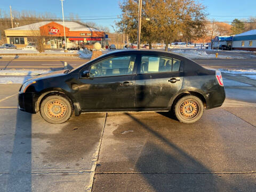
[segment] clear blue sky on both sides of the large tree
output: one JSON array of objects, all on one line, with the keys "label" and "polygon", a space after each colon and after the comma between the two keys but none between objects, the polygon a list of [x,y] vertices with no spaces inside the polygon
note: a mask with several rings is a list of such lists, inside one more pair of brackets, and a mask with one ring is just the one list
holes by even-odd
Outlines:
[{"label": "clear blue sky on both sides of the large tree", "polygon": [[[121,10],[118,3],[122,0],[65,0],[64,12],[69,17],[69,13],[78,14],[83,21],[92,21],[102,26],[114,25]],[[255,0],[198,0],[206,6],[209,12],[209,19],[218,21],[232,21],[235,18],[243,19],[250,16],[256,17]],[[0,9],[9,12],[9,6],[17,11],[51,12],[57,17],[61,17],[61,2],[59,0],[1,0]],[[103,18],[103,19],[102,19]],[[98,20],[100,19],[100,20]]]}]

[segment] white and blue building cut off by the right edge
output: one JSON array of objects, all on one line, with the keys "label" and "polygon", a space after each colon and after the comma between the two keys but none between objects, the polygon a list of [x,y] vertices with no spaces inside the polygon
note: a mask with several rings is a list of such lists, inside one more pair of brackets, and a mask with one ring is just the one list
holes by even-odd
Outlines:
[{"label": "white and blue building cut off by the right edge", "polygon": [[256,51],[256,29],[235,35],[233,37],[233,49]]}]

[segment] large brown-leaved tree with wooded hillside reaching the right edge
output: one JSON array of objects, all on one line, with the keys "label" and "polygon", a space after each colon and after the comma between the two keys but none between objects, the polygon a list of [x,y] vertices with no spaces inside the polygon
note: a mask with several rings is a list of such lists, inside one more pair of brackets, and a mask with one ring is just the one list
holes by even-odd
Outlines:
[{"label": "large brown-leaved tree with wooded hillside reaching the right edge", "polygon": [[[256,18],[235,19],[231,25],[209,21],[205,6],[194,0],[141,1],[141,42],[149,44],[150,49],[153,43],[164,43],[167,50],[167,45],[174,41],[209,41],[212,35],[235,35],[256,28]],[[138,4],[139,0],[119,4],[122,13],[116,26],[119,33],[129,35],[131,42],[137,42]]]}]

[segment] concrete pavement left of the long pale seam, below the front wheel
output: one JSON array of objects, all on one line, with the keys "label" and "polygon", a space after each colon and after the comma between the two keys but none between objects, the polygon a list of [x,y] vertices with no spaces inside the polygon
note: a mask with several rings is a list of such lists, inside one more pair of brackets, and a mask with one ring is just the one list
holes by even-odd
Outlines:
[{"label": "concrete pavement left of the long pale seam, below the front wheel", "polygon": [[20,85],[0,85],[0,191],[90,191],[106,114],[49,124],[20,111]]}]

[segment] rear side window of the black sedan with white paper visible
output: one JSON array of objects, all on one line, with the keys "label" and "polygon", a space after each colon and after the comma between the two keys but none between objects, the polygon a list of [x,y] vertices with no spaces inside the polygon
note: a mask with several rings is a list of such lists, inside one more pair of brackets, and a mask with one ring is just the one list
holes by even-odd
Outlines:
[{"label": "rear side window of the black sedan with white paper visible", "polygon": [[180,60],[154,56],[145,55],[141,57],[140,73],[165,73],[165,72],[178,72],[180,69]]}]

